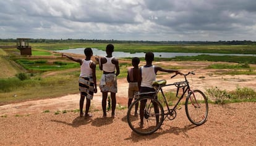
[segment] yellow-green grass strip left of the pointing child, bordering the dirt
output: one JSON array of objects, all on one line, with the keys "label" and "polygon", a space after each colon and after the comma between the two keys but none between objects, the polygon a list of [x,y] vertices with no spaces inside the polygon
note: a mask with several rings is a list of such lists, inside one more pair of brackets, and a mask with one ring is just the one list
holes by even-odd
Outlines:
[{"label": "yellow-green grass strip left of the pointing child, bordering the dirt", "polygon": [[[0,103],[22,102],[30,99],[59,97],[76,94],[77,76],[33,77],[21,81],[18,78],[0,79]],[[16,97],[14,97],[16,95]]]}]

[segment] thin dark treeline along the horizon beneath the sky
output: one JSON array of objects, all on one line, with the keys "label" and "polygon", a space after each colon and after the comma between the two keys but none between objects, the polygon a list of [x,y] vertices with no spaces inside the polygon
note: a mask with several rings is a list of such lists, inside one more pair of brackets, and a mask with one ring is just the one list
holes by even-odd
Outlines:
[{"label": "thin dark treeline along the horizon beneath the sky", "polygon": [[[0,39],[0,42],[16,42],[16,39]],[[145,44],[209,44],[256,45],[256,41],[120,41],[114,39],[30,39],[30,43],[145,43]]]}]

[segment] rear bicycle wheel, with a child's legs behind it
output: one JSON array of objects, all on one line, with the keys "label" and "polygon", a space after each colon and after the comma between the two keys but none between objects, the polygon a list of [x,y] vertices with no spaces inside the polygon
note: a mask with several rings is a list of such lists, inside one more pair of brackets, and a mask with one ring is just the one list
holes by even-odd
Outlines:
[{"label": "rear bicycle wheel, with a child's legs behind it", "polygon": [[127,112],[127,122],[130,128],[141,135],[152,134],[158,130],[163,119],[163,107],[158,100],[152,97],[142,97],[135,100]]}]

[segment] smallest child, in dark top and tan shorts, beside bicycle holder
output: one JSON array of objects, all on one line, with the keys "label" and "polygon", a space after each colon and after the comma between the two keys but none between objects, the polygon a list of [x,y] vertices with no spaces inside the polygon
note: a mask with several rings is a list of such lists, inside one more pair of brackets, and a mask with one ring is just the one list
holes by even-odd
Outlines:
[{"label": "smallest child, in dark top and tan shorts, beside bicycle holder", "polygon": [[[128,88],[128,107],[132,103],[132,99],[137,99],[135,95],[136,92],[139,92],[138,79],[139,79],[139,63],[140,59],[138,57],[134,57],[132,59],[132,66],[134,68],[129,68],[127,71],[127,81],[129,83]],[[137,116],[138,104],[135,105],[135,113],[134,116]]]}]

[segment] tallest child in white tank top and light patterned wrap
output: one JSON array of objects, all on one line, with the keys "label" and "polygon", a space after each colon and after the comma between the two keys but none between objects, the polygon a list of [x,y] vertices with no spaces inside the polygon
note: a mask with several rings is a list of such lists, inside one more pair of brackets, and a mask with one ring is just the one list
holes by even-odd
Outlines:
[{"label": "tallest child in white tank top and light patterned wrap", "polygon": [[118,59],[113,57],[113,52],[113,44],[108,44],[106,46],[106,57],[101,57],[100,59],[98,59],[100,64],[100,70],[103,70],[103,75],[101,76],[100,81],[100,89],[102,92],[101,105],[103,109],[103,118],[106,118],[106,100],[108,98],[108,92],[111,92],[112,117],[114,117],[114,111],[116,110],[116,77],[119,75],[119,62]]}]

